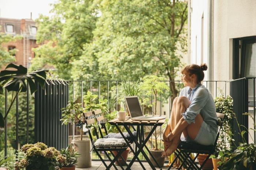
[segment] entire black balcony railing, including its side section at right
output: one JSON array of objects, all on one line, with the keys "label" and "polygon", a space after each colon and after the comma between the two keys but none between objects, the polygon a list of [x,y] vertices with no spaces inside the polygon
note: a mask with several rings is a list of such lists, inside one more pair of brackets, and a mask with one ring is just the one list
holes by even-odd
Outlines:
[{"label": "entire black balcony railing, including its side section at right", "polygon": [[[246,78],[245,78],[246,79]],[[218,89],[221,89],[223,91],[223,93],[226,95],[231,94],[232,97],[234,97],[234,109],[237,107],[237,105],[241,105],[241,101],[244,100],[244,107],[246,107],[246,97],[241,98],[239,97],[240,93],[241,93],[241,88],[245,88],[246,89],[246,84],[242,84],[242,83],[238,83],[238,81],[240,80],[234,80],[234,81],[204,81],[203,84],[211,91],[212,96],[215,98],[217,97],[220,93]],[[119,81],[119,80],[106,80],[106,81],[68,81],[68,99],[72,99],[73,101],[79,102],[81,103],[81,101],[83,101],[83,95],[86,94],[86,92],[88,90],[90,90],[91,92],[93,92],[94,94],[98,95],[98,98],[106,98],[108,99],[108,113],[110,111],[114,111],[114,110],[119,110],[120,107],[124,107],[125,109],[125,105],[120,105],[117,103],[117,101],[115,101],[115,103],[113,103],[113,97],[118,94],[118,87],[121,86],[121,83],[123,81]],[[182,81],[165,81],[167,85],[169,85],[169,90],[166,90],[163,94],[160,94],[159,96],[157,96],[157,102],[159,104],[159,106],[157,108],[157,111],[159,113],[159,115],[163,116],[166,115],[167,119],[170,118],[170,114],[171,114],[171,109],[172,109],[172,100],[173,100],[173,91],[171,90],[171,85],[172,83],[174,83],[176,90],[177,90],[177,95],[179,94],[180,90],[183,87],[183,83]],[[254,101],[254,105],[253,105],[253,116],[254,116],[254,121],[255,121],[255,78],[253,79],[253,101]],[[236,84],[236,86],[234,86],[234,84]],[[244,85],[244,86],[242,86]],[[251,87],[251,86],[249,86]],[[237,89],[237,90],[236,90]],[[49,89],[50,90],[50,89]],[[52,89],[51,89],[52,90]],[[56,93],[57,91],[52,91],[51,95],[54,95],[54,93]],[[12,92],[7,92],[5,90],[5,102],[4,102],[4,109],[6,112],[7,109],[7,105],[8,105],[8,98],[11,97]],[[238,95],[239,94],[239,95]],[[246,94],[246,92],[244,93]],[[62,95],[59,91],[59,93],[56,95]],[[146,95],[146,94],[145,94]],[[237,95],[237,96],[236,96]],[[245,95],[246,96],[246,95]],[[153,95],[149,96],[150,98],[150,103],[153,103],[155,101]],[[241,98],[240,103],[236,103],[237,99]],[[9,99],[10,100],[10,99]],[[23,109],[22,111],[20,110],[21,106],[20,106],[20,101],[22,100],[22,104],[24,107],[24,104],[26,104],[26,108],[25,110]],[[248,102],[248,100],[247,100]],[[2,137],[4,139],[4,156],[6,156],[8,153],[9,148],[13,147],[15,150],[19,149],[22,144],[25,143],[33,143],[35,141],[36,138],[33,138],[33,136],[35,135],[35,129],[31,130],[31,124],[33,125],[35,123],[35,117],[31,117],[31,113],[33,113],[34,111],[31,110],[31,105],[35,107],[34,110],[36,110],[37,106],[34,104],[34,99],[33,96],[31,96],[29,94],[29,90],[27,90],[26,94],[19,95],[19,97],[17,97],[16,100],[16,105],[14,106],[15,108],[12,109],[12,117],[9,117],[8,120],[6,120],[5,122],[5,130],[4,133],[2,134]],[[64,105],[64,104],[63,104]],[[59,107],[59,109],[61,108],[61,106]],[[153,108],[146,108],[146,107],[142,107],[143,108],[143,113],[144,114],[150,114],[150,112],[154,111]],[[235,110],[234,110],[235,111]],[[24,114],[24,112],[26,112],[26,114]],[[21,114],[22,113],[22,114]],[[240,113],[240,112],[239,112]],[[20,115],[22,115],[22,117],[20,117]],[[10,116],[10,115],[8,115]],[[26,119],[25,124],[20,124],[20,119]],[[10,120],[11,119],[11,120]],[[14,120],[15,119],[15,120]],[[238,120],[240,121],[240,119]],[[10,122],[15,124],[10,124]],[[8,124],[9,123],[9,124]],[[246,125],[246,124],[245,124]],[[20,129],[20,126],[22,126],[23,128]],[[25,128],[24,128],[25,127]],[[57,126],[56,126],[57,127]],[[10,134],[10,132],[13,133],[13,128],[15,128],[15,139],[10,137],[13,134]],[[9,132],[10,131],[10,132]],[[54,126],[52,126],[52,128],[50,129],[50,131],[57,131],[57,128],[55,129]],[[9,132],[9,134],[8,134]],[[69,130],[68,131],[64,131],[66,134],[65,135],[69,135],[72,136],[72,138],[75,138],[76,135],[79,135],[79,130],[76,129],[76,127],[74,125],[70,125],[69,126]],[[235,131],[236,132],[236,131]],[[22,135],[20,135],[22,134]],[[63,132],[61,133],[63,134]],[[3,136],[4,135],[4,136]],[[22,140],[20,139],[22,136]],[[159,136],[159,140],[162,137],[162,135]],[[51,135],[49,135],[48,138],[51,138]],[[19,140],[20,139],[20,140]],[[38,138],[37,138],[38,139]],[[2,140],[3,141],[3,140]],[[21,142],[22,141],[22,142]],[[254,140],[253,142],[255,142],[255,134],[254,134]],[[10,144],[8,144],[10,143]],[[151,145],[152,147],[152,139],[151,139]],[[53,145],[54,146],[54,145]],[[61,145],[62,146],[62,145]],[[162,142],[160,143],[160,147],[163,147]],[[8,148],[8,150],[7,150]],[[97,159],[97,157],[95,157],[95,159]]]}]

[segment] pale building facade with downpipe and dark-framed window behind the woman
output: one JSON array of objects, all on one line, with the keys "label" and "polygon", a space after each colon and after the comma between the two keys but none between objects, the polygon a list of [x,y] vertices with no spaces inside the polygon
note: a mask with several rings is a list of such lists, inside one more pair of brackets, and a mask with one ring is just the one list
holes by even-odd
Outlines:
[{"label": "pale building facade with downpipe and dark-framed window behind the woman", "polygon": [[[256,77],[256,1],[188,0],[188,6],[189,62],[208,64],[205,80]],[[210,88],[217,94],[215,85]],[[229,85],[225,88],[229,92]],[[253,89],[253,78],[248,78],[248,112],[252,116]],[[248,121],[248,129],[253,128],[253,121]]]}]

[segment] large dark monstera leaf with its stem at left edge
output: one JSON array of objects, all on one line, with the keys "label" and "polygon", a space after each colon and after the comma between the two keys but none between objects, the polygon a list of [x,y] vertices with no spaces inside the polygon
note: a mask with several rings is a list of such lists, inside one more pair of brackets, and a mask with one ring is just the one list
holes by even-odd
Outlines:
[{"label": "large dark monstera leaf with its stem at left edge", "polygon": [[[6,70],[9,69],[9,70]],[[6,66],[5,70],[0,72],[0,94],[3,94],[3,88],[7,89],[8,92],[14,91],[17,92],[26,92],[27,84],[29,84],[30,93],[33,94],[37,87],[35,81],[43,88],[45,85],[46,73],[44,70],[36,70],[30,73],[27,73],[27,68],[22,65],[15,65],[13,63]],[[27,81],[27,84],[26,84]],[[16,96],[17,96],[16,94]],[[6,119],[10,108],[14,103],[16,96],[13,98],[7,113],[3,117],[0,113],[0,127],[4,127],[4,120]]]}]

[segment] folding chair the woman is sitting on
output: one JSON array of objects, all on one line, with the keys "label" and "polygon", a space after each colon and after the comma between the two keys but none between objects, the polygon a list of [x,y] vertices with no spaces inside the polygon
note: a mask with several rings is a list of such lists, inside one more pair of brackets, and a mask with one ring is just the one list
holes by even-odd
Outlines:
[{"label": "folding chair the woman is sitting on", "polygon": [[[205,146],[205,145],[201,145],[201,144],[193,143],[193,142],[181,142],[179,144],[177,150],[174,152],[174,154],[176,155],[176,158],[171,163],[169,169],[174,165],[174,163],[177,159],[180,159],[180,161],[182,162],[180,167],[179,167],[179,170],[184,165],[188,166],[187,170],[189,170],[189,169],[201,170],[203,168],[204,164],[209,159],[211,154],[213,154],[215,152],[215,147],[217,145],[217,141],[218,141],[218,138],[219,138],[219,132],[221,130],[222,123],[225,119],[225,114],[217,113],[217,117],[220,118],[221,121],[218,121],[219,130],[218,130],[218,134],[216,136],[214,144],[210,145],[210,146]],[[191,153],[196,153],[196,157],[194,159],[192,159],[189,156]],[[206,157],[206,159],[204,160],[202,166],[200,166],[200,167],[197,166],[197,164],[195,163],[195,160],[196,160],[196,158],[198,157],[199,154],[207,154],[208,155]]]}]

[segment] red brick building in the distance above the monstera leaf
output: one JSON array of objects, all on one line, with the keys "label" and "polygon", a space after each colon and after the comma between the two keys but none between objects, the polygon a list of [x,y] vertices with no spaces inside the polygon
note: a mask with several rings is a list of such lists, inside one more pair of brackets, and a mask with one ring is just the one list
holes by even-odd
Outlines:
[{"label": "red brick building in the distance above the monstera leaf", "polygon": [[31,59],[35,57],[32,48],[38,47],[36,44],[35,34],[37,27],[31,19],[8,19],[0,18],[0,32],[12,35],[22,35],[22,39],[16,42],[3,44],[8,50],[17,49],[15,53],[16,64],[26,67],[30,66]]}]

